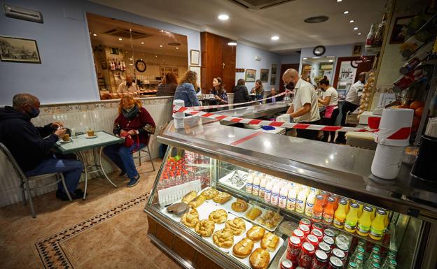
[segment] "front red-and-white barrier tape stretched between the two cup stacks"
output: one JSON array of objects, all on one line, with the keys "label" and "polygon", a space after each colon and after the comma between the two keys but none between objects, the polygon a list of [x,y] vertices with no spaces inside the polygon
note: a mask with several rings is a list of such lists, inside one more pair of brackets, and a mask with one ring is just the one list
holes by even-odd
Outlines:
[{"label": "front red-and-white barrier tape stretched between the two cup stacks", "polygon": [[175,112],[183,112],[196,117],[219,119],[219,120],[224,120],[226,122],[259,124],[263,126],[274,126],[274,127],[294,128],[294,129],[307,129],[307,130],[318,130],[318,131],[359,131],[359,132],[371,132],[371,133],[375,133],[380,130],[380,129],[363,129],[363,128],[344,127],[344,126],[326,126],[326,125],[301,124],[301,123],[289,123],[289,122],[271,122],[270,120],[261,120],[261,119],[244,119],[242,117],[230,117],[226,115],[214,114],[211,112],[199,111],[184,106],[174,106],[173,113]]}]

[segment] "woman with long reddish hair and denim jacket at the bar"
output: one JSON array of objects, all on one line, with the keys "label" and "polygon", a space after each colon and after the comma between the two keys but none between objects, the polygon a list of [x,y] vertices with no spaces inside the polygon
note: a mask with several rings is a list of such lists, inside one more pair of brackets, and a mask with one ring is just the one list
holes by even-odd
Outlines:
[{"label": "woman with long reddish hair and denim jacket at the bar", "polygon": [[197,73],[195,73],[195,71],[188,70],[183,75],[178,87],[176,87],[174,99],[183,100],[185,102],[185,106],[200,106],[195,89],[197,89]]}]

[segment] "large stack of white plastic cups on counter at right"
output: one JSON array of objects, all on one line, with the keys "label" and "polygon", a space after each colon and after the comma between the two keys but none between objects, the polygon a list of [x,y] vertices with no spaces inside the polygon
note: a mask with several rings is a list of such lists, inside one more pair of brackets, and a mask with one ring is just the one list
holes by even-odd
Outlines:
[{"label": "large stack of white plastic cups on counter at right", "polygon": [[375,157],[372,162],[372,173],[385,180],[393,180],[401,170],[405,147],[409,145],[412,109],[391,109],[382,111],[380,131],[375,141],[377,143]]}]

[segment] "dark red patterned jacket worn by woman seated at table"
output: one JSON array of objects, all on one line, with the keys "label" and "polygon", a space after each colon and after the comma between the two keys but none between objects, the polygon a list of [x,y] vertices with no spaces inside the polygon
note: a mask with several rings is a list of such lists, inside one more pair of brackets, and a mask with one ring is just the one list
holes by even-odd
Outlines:
[{"label": "dark red patterned jacket worn by woman seated at table", "polygon": [[[139,143],[144,143],[144,145],[148,144],[148,138],[149,138],[149,133],[146,132],[146,130],[144,129],[144,126],[146,126],[146,124],[150,124],[153,127],[155,126],[155,122],[153,122],[153,118],[151,117],[150,114],[148,114],[146,108],[140,108],[139,113],[137,115],[137,117],[135,117],[132,120],[126,119],[123,116],[123,113],[120,113],[120,115],[118,115],[118,117],[116,118],[116,120],[114,121],[114,124],[119,124],[120,128],[117,130],[116,128],[114,128],[114,133],[119,135],[120,134],[120,129],[134,129],[137,130],[139,132],[138,136],[139,136]],[[133,137],[134,141],[137,140],[137,138]]]}]

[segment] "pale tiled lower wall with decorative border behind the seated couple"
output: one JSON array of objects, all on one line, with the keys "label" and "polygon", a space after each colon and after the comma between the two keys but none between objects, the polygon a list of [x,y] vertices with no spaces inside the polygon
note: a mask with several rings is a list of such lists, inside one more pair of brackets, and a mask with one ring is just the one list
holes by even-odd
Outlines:
[{"label": "pale tiled lower wall with decorative border behind the seated couple", "polygon": [[[157,126],[157,133],[160,126],[172,119],[172,98],[171,97],[152,97],[141,99],[144,108],[153,117]],[[118,100],[95,101],[89,103],[76,104],[53,104],[41,106],[41,114],[33,120],[36,126],[42,126],[50,122],[63,122],[68,128],[76,128],[77,131],[85,131],[85,127],[92,127],[96,131],[108,131],[112,133],[113,121],[117,116]],[[19,143],[19,141],[18,141]],[[158,157],[159,144],[156,136],[151,137],[149,143],[152,158]],[[142,154],[144,156],[144,154]],[[91,159],[91,154],[87,152],[86,158]],[[0,154],[0,207],[11,205],[21,201],[21,192],[18,177],[12,166],[6,164],[3,154]],[[111,172],[114,167],[108,159],[104,159],[106,172]],[[52,179],[47,179],[52,180]],[[44,182],[42,181],[41,184]],[[57,187],[41,189],[35,195],[45,194],[53,191]]]}]

